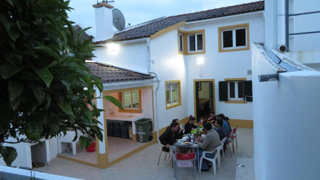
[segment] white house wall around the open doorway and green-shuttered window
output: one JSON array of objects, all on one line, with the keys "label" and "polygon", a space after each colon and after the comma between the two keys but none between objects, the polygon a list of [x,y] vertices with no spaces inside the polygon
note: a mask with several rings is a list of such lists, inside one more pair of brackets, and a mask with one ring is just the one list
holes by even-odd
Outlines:
[{"label": "white house wall around the open doorway and green-shuttered window", "polygon": [[[214,100],[216,114],[223,113],[230,119],[253,120],[252,102],[247,102],[247,104],[233,104],[219,101],[219,81],[224,81],[224,78],[247,78],[247,80],[252,80],[251,75],[247,75],[247,70],[251,70],[251,47],[248,51],[218,53],[218,27],[243,23],[249,23],[250,42],[264,41],[264,21],[262,13],[206,23],[190,24],[183,29],[185,31],[205,29],[206,44],[205,54],[184,56],[188,81],[188,114],[194,115],[193,79],[215,79]],[[174,39],[177,44],[176,39],[177,35]],[[177,48],[177,45],[175,45],[174,50],[176,53]],[[198,57],[204,58],[204,63],[201,65],[202,77],[200,77],[200,65],[197,64]],[[254,97],[253,101],[255,101]]]}]

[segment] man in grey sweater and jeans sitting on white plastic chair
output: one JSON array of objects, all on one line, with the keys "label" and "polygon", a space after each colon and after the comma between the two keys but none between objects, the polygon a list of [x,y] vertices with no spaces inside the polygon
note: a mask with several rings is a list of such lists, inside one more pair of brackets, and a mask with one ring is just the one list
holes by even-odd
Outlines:
[{"label": "man in grey sweater and jeans sitting on white plastic chair", "polygon": [[[200,139],[202,137],[198,137],[196,139],[197,144],[201,148],[199,149],[199,151],[196,152],[196,160],[198,160],[198,154],[199,154],[199,159],[201,158],[203,151],[211,152],[214,149],[216,149],[218,146],[220,146],[219,134],[216,131],[212,130],[211,124],[205,123],[203,127],[205,131],[203,143],[200,143]],[[205,153],[206,158],[214,158],[214,156],[215,155],[212,153]],[[198,164],[199,164],[199,160],[198,160]],[[209,168],[211,168],[210,161],[203,159],[201,164],[201,171],[209,171]]]}]

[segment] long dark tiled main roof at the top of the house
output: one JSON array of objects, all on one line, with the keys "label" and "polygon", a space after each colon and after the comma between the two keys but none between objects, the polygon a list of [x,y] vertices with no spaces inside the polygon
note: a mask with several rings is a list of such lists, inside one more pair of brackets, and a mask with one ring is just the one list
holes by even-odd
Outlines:
[{"label": "long dark tiled main roof at the top of the house", "polygon": [[193,12],[188,14],[181,14],[176,16],[169,16],[167,18],[158,18],[156,20],[151,20],[150,23],[143,23],[141,26],[136,28],[124,30],[122,32],[116,33],[112,38],[97,41],[94,44],[104,44],[108,42],[126,41],[132,39],[140,39],[150,37],[156,32],[175,25],[179,22],[186,21],[197,21],[205,19],[213,19],[224,16],[231,16],[236,14],[244,14],[248,12],[257,12],[264,10],[264,1],[257,1],[247,4],[239,4],[228,7],[221,7],[216,9],[209,9],[201,12]]}]

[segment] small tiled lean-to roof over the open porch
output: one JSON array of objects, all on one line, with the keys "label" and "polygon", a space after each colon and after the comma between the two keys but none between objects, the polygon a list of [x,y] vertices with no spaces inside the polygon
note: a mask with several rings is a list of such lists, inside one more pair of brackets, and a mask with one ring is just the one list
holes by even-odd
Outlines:
[{"label": "small tiled lean-to roof over the open porch", "polygon": [[102,83],[137,81],[155,78],[154,76],[121,69],[101,62],[86,61],[85,64],[91,70],[92,75],[101,78]]}]

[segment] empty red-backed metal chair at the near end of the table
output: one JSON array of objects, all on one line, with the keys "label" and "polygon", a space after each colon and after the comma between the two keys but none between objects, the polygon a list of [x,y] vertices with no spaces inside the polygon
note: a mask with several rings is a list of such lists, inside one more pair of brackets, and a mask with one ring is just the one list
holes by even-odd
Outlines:
[{"label": "empty red-backed metal chair at the near end of the table", "polygon": [[[181,154],[176,153],[176,157],[174,157],[174,153],[172,153],[172,159],[174,160],[174,177],[178,179],[178,169],[177,168],[193,168],[192,176],[195,177],[196,172],[196,153],[187,153]],[[196,179],[196,177],[195,177]]]}]

